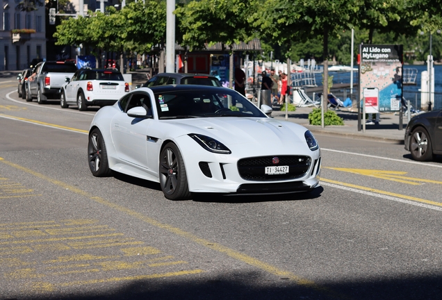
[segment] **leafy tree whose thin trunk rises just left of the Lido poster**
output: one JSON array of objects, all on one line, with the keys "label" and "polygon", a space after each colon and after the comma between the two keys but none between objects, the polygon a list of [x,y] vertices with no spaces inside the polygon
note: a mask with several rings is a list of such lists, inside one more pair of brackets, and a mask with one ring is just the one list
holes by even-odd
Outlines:
[{"label": "leafy tree whose thin trunk rises just left of the Lido poster", "polygon": [[[259,0],[256,2],[261,3]],[[361,3],[362,0],[268,0],[249,17],[249,21],[278,44],[322,37],[322,105],[327,108],[329,38],[339,38],[344,29],[354,26]]]}]

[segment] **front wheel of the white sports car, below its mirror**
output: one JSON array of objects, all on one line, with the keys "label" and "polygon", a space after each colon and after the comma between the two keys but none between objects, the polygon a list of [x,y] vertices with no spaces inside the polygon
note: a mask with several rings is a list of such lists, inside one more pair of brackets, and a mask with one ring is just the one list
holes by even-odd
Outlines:
[{"label": "front wheel of the white sports car, below its mirror", "polygon": [[186,167],[176,144],[170,142],[161,151],[159,170],[161,190],[167,199],[190,198]]}]

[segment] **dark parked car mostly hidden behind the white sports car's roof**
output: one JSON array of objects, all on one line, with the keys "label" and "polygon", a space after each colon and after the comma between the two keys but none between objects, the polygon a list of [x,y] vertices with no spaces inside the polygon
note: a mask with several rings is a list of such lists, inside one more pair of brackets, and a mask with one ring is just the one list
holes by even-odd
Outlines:
[{"label": "dark parked car mostly hidden behind the white sports car's roof", "polygon": [[136,88],[150,88],[158,85],[180,85],[180,84],[193,84],[193,85],[210,85],[210,86],[222,86],[218,78],[208,74],[188,74],[188,73],[159,73],[147,82],[143,83]]}]

